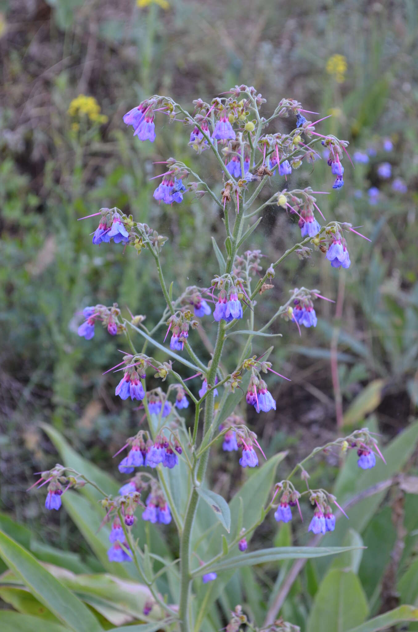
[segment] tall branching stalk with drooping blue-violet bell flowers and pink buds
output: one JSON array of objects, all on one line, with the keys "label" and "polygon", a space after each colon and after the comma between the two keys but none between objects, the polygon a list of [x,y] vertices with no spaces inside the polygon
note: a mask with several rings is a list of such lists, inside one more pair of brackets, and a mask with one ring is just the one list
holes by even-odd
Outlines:
[{"label": "tall branching stalk with drooping blue-violet bell flowers and pink buds", "polygon": [[[257,413],[268,413],[276,409],[276,403],[268,391],[265,379],[270,374],[275,374],[280,379],[289,379],[273,368],[272,362],[268,360],[272,347],[267,348],[260,357],[251,355],[254,337],[261,336],[262,339],[263,336],[272,336],[273,334],[268,334],[268,329],[278,318],[292,322],[301,334],[302,326],[316,326],[314,301],[331,300],[322,296],[319,289],[294,288],[289,300],[277,308],[268,322],[256,329],[255,298],[262,297],[265,291],[272,288],[270,281],[274,279],[278,266],[292,253],[308,258],[320,251],[325,254],[332,267],[347,269],[350,258],[344,235],[356,232],[346,222],[330,221],[325,226],[319,224],[318,215],[315,217],[314,214],[323,215],[315,196],[328,191],[313,191],[311,187],[289,190],[287,183],[287,176],[298,169],[303,161],[313,163],[320,158],[314,145],[321,142],[328,151],[331,173],[336,176],[333,188],[340,188],[343,186],[344,171],[341,161],[347,154],[348,143],[315,131],[320,121],[308,121],[304,114],[310,112],[302,109],[296,100],[282,99],[272,116],[265,118],[262,114],[265,99],[257,94],[255,88],[235,86],[225,94],[227,96],[215,97],[211,103],[196,99],[193,102],[193,115],[170,97],[153,95],[124,116],[124,123],[133,126],[134,136],[138,136],[141,141],[150,142],[155,140],[155,114],[167,116],[173,125],[181,121],[182,125],[191,128],[189,147],[197,154],[209,150],[215,157],[222,184],[206,183],[184,162],[170,157],[164,161],[164,173],[155,176],[160,179],[160,184],[153,193],[155,200],[171,205],[173,210],[188,193],[196,198],[209,195],[217,209],[222,211],[225,250],[222,253],[214,243],[219,274],[212,274],[212,278],[207,279],[206,287],[190,286],[184,288],[181,295],[173,297],[173,284],[167,288],[160,260],[167,238],[147,224],[134,221],[132,216],[126,216],[117,208],[104,208],[92,214],[99,216],[99,226],[93,234],[93,245],[106,247],[107,243],[114,241],[116,244],[131,246],[138,255],[143,250],[150,252],[165,300],[162,317],[153,327],[148,328],[144,324],[144,315],[130,313],[130,319],[122,317],[121,310],[115,303],[110,307],[85,307],[85,320],[78,329],[78,334],[87,340],[92,339],[95,325],[99,323],[111,336],[126,336],[129,352],[122,351],[122,358],[119,358],[121,362],[116,363],[109,372],[121,372],[116,396],[139,402],[138,408],[143,410],[147,422],[147,429],[138,430],[136,435],[128,437],[126,444],[117,453],[128,451],[118,468],[122,474],[133,476],[122,485],[115,498],[106,495],[82,474],[61,465],[43,472],[35,483],[39,487],[48,485],[45,501],[47,509],[58,509],[61,506],[61,495],[69,488],[78,489],[90,483],[97,489],[103,497],[102,506],[106,512],[102,524],[111,523],[109,540],[112,547],[109,549],[109,560],[133,561],[141,580],[150,588],[155,603],[169,617],[165,619],[165,623],[176,621],[182,632],[191,632],[196,626],[199,627],[205,616],[205,612],[201,611],[198,621],[192,620],[193,581],[198,581],[197,578],[200,577],[203,583],[220,581],[217,579],[217,563],[236,545],[239,552],[245,554],[248,548],[247,538],[265,520],[271,509],[275,509],[275,520],[287,522],[292,519],[292,507],[297,506],[299,512],[301,511],[299,498],[306,495],[314,509],[309,530],[314,533],[333,530],[335,517],[331,505],[337,504],[337,499],[326,490],[309,489],[309,474],[305,466],[310,458],[333,448],[343,452],[356,449],[358,464],[363,469],[374,466],[376,454],[383,458],[376,440],[367,429],[355,431],[348,437],[315,448],[306,459],[297,463],[286,479],[275,484],[271,500],[263,503],[260,517],[253,524],[239,526],[237,533],[227,542],[226,549],[222,545],[221,550],[206,561],[198,558],[200,566],[196,566],[197,553],[196,550],[192,551],[191,543],[198,502],[201,495],[208,494],[205,491],[205,477],[211,449],[222,441],[222,448],[227,452],[241,450],[239,463],[242,468],[258,466],[257,451],[264,457],[257,435],[248,428],[239,414],[242,404],[237,394],[242,391],[241,401],[245,396],[246,403],[254,406]],[[269,125],[275,119],[288,117],[296,119],[292,131],[270,131]],[[279,180],[275,179],[276,174]],[[266,202],[256,205],[261,191],[268,183],[277,186],[277,190]],[[260,250],[244,250],[243,246],[260,223],[261,213],[267,206],[297,218],[301,241],[286,250],[263,272],[263,255]],[[256,274],[261,278],[254,284]],[[213,319],[217,322],[216,340],[212,355],[201,359],[196,355],[191,339],[193,331],[201,327],[201,319],[212,314],[211,302],[214,303]],[[237,325],[242,321],[246,310],[249,310],[249,329],[238,329]],[[133,343],[133,333],[142,339],[141,351]],[[244,336],[244,344],[237,354],[239,359],[235,367],[221,363],[225,343],[232,335]],[[164,351],[167,358],[165,362],[159,362],[147,355],[150,347]],[[176,368],[173,368],[174,363]],[[154,378],[161,380],[162,385],[169,380],[165,391],[163,386],[147,391],[146,376],[151,370]],[[193,375],[189,375],[189,372],[193,372]],[[201,380],[198,396],[193,387],[196,382],[189,382],[191,379]],[[224,392],[215,410],[215,398],[219,396],[221,388]],[[170,401],[173,394],[174,403]],[[236,410],[224,418],[221,416],[222,410],[230,401],[234,401]],[[194,405],[194,422],[186,427],[181,411],[187,410],[190,402]],[[189,489],[185,509],[177,506],[169,484],[169,472],[172,468],[179,467],[180,462],[182,468],[186,468],[188,478],[187,481],[184,480]],[[134,473],[136,468],[145,470]],[[291,480],[298,470],[301,472],[302,482],[306,483],[306,489],[302,491]],[[144,492],[147,492],[145,503]],[[210,493],[212,508],[228,531],[229,508],[222,497]],[[226,508],[221,510],[220,506]],[[166,564],[164,569],[155,574],[155,556],[146,544],[141,547],[141,543],[134,541],[131,528],[137,520],[134,513],[138,507],[143,507],[142,520],[166,525],[173,518],[176,524],[180,542],[178,607],[167,604],[155,585],[160,574],[171,564]],[[219,514],[222,514],[222,518]],[[206,537],[212,530],[210,527]],[[146,607],[144,615],[151,609],[152,604]],[[237,605],[230,622],[232,627],[227,629],[238,629],[234,626],[239,626],[240,622],[246,623],[254,631],[260,629],[255,623],[248,621],[241,606]],[[281,627],[263,629],[296,628],[291,624],[284,624]]]}]

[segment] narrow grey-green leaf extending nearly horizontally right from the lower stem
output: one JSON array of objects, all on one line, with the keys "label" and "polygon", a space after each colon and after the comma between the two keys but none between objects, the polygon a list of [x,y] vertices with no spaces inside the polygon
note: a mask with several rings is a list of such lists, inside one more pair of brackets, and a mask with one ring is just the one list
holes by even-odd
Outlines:
[{"label": "narrow grey-green leaf extending nearly horizontally right from the lower stem", "polygon": [[209,571],[221,573],[230,568],[241,568],[242,566],[254,566],[255,564],[268,564],[283,559],[308,559],[309,557],[324,557],[336,555],[352,550],[352,547],[282,547],[281,549],[260,549],[245,555],[229,557],[224,561],[213,564],[205,569],[196,569],[193,576],[198,577]]}]

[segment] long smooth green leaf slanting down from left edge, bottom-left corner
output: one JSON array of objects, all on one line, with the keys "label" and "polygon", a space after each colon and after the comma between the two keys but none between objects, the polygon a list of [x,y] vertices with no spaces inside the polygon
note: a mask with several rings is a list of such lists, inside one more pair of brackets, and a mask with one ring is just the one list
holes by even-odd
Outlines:
[{"label": "long smooth green leaf slanting down from left edge, bottom-left corner", "polygon": [[90,610],[27,550],[0,532],[0,556],[55,616],[75,632],[100,632],[102,627]]}]

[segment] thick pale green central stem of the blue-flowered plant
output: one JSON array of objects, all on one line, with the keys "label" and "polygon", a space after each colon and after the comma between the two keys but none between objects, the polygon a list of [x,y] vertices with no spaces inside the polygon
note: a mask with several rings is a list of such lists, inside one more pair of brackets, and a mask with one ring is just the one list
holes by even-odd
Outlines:
[{"label": "thick pale green central stem of the blue-flowered plant", "polygon": [[[232,267],[234,265],[234,261],[237,254],[237,244],[239,242],[239,238],[241,236],[242,231],[242,221],[244,219],[244,209],[241,210],[241,213],[236,216],[236,220],[234,223],[234,230],[232,231],[232,239],[231,239],[231,252],[227,258],[227,265],[225,272],[230,274],[232,272]],[[218,365],[220,362],[220,358],[222,356],[222,350],[224,349],[225,343],[225,321],[221,320],[218,325],[218,334],[217,341],[215,344],[215,349],[213,351],[212,364],[210,365],[210,369],[208,374],[206,375],[206,380],[208,382],[208,386],[211,386],[212,389],[215,386],[215,378],[217,374]],[[212,439],[212,435],[214,432],[214,428],[212,428],[213,421],[213,391],[209,392],[206,397],[205,403],[205,416],[203,418],[203,438],[205,438],[206,434],[209,432],[210,437],[208,440]],[[196,423],[196,420],[195,422]],[[200,459],[196,459],[193,457],[193,475],[192,475],[192,483],[193,487],[191,490],[191,494],[189,496],[188,506],[186,509],[186,516],[184,518],[184,527],[182,533],[180,534],[180,603],[179,603],[179,620],[182,632],[190,632],[190,623],[189,623],[189,597],[190,597],[190,588],[191,588],[191,573],[190,573],[190,544],[191,544],[191,530],[193,528],[194,516],[196,515],[196,509],[198,506],[199,495],[197,492],[198,487],[200,487],[203,480],[205,480],[206,467],[208,465],[209,459],[209,450],[206,450]]]}]

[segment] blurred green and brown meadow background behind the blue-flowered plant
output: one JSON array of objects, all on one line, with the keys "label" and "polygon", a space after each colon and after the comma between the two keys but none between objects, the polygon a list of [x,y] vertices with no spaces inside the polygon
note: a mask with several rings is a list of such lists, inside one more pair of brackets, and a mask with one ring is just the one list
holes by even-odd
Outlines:
[{"label": "blurred green and brown meadow background behind the blue-flowered plant", "polygon": [[[334,299],[339,295],[343,315],[336,319],[335,305],[317,303],[318,327],[303,331],[302,338],[283,321],[275,325],[272,332],[280,331],[283,338],[272,361],[292,382],[270,380],[277,414],[263,420],[250,417],[249,422],[267,456],[290,449],[288,464],[334,437],[339,395],[331,379],[333,346],[338,349],[345,423],[361,427],[365,416],[374,413],[372,423],[383,434],[384,444],[405,432],[418,401],[416,3],[178,0],[164,10],[153,3],[140,9],[134,0],[117,5],[19,0],[0,2],[0,12],[0,502],[7,514],[30,526],[38,550],[52,542],[68,556],[81,556],[76,562],[71,557],[74,564],[85,565],[88,571],[101,568],[93,560],[92,542],[87,538],[87,545],[80,539],[68,514],[45,516],[40,495],[25,492],[33,471],[57,460],[56,447],[39,423],[63,432],[77,451],[112,475],[116,468],[109,455],[138,424],[138,413],[113,397],[114,376],[102,375],[118,362],[115,341],[101,331],[90,343],[79,339],[80,318],[75,314],[85,305],[117,301],[123,310],[127,306],[133,313],[146,314],[152,324],[164,305],[146,252],[136,258],[116,246],[92,246],[88,233],[95,229],[95,218],[76,220],[116,205],[167,234],[162,258],[174,293],[194,283],[208,286],[217,272],[208,234],[222,244],[224,233],[210,199],[188,196],[182,205],[158,206],[152,199],[155,181],[150,181],[158,173],[152,162],[170,155],[210,181],[220,178],[217,166],[210,156],[196,157],[187,146],[189,128],[167,125],[162,114],[157,114],[153,145],[133,139],[131,129],[122,123],[124,112],[155,92],[171,94],[191,107],[194,98],[208,100],[244,82],[268,100],[268,112],[282,97],[290,97],[321,116],[332,113],[321,131],[349,140],[351,155],[376,148],[376,157],[366,166],[355,164],[353,170],[345,161],[343,190],[323,196],[321,204],[327,220],[362,226],[359,230],[372,243],[349,238],[352,265],[347,272],[331,270],[320,253],[307,262],[289,257],[273,281],[274,289],[260,297],[260,323],[297,285],[320,288]],[[326,62],[334,54],[347,59],[342,83],[326,72]],[[87,117],[71,118],[68,106],[78,94],[95,97],[108,122],[99,126]],[[383,149],[385,138],[393,142],[391,152]],[[378,177],[377,166],[384,161],[391,163],[393,177],[405,180],[406,194],[391,189],[393,178]],[[290,179],[292,188],[308,183],[315,190],[330,190],[325,161],[302,167]],[[263,192],[266,199],[275,186],[282,184],[272,179],[270,190]],[[381,190],[377,205],[369,204],[370,186]],[[299,234],[292,219],[271,207],[248,247],[260,248],[268,267],[299,240]],[[205,334],[213,340],[209,323]],[[202,336],[196,346],[207,353],[206,344]],[[263,344],[257,344],[263,353]],[[234,354],[232,344],[230,353]],[[406,460],[399,453],[397,459],[393,473],[407,462],[409,473],[415,473],[416,451],[411,450]],[[213,454],[212,483],[227,499],[242,484],[232,460],[219,450]],[[310,473],[313,481],[326,487],[338,471],[340,463],[328,456]],[[362,591],[364,617],[398,603],[414,604],[418,586],[415,581],[415,588],[410,588],[405,577],[414,577],[417,568],[417,501],[413,494],[403,496],[404,532],[400,523],[392,523],[398,515],[397,494],[381,497],[370,520],[352,526],[369,547],[357,566],[347,562],[352,576],[342,577],[333,568],[329,572],[338,578],[329,578],[320,564],[308,562],[285,602],[284,617],[302,629],[319,629],[313,622],[324,614],[320,600],[314,599],[325,591],[326,581],[334,588],[340,580],[352,581],[340,590]],[[276,544],[286,544],[289,533],[276,531],[271,523],[263,525],[257,545],[270,546],[274,538]],[[344,534],[337,530],[335,537],[333,544],[342,544]],[[390,554],[399,540],[408,554],[398,560],[389,588],[383,583],[385,592],[382,578],[388,576]],[[373,549],[376,541],[381,549]],[[28,542],[21,544],[29,548]],[[175,541],[170,545],[176,548]],[[385,555],[379,554],[381,550]],[[45,561],[40,554],[39,559]],[[289,562],[280,563],[279,571],[285,573]],[[77,568],[72,569],[81,572],[81,566]],[[230,592],[220,597],[220,612],[227,613],[237,600],[252,600],[251,611],[261,623],[271,595],[280,588],[277,566],[268,573],[260,568],[255,575],[247,570],[241,572],[241,580],[231,580]],[[4,593],[0,596],[11,603]],[[338,629],[352,627],[349,621],[349,627]]]}]

